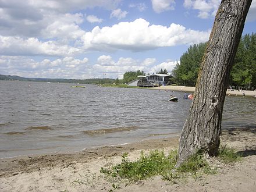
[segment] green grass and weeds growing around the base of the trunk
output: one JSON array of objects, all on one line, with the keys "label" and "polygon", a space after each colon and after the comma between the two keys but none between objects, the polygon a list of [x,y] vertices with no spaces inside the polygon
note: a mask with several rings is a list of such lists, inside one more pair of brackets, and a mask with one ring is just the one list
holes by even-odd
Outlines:
[{"label": "green grass and weeds growing around the base of the trunk", "polygon": [[[126,179],[130,183],[157,175],[161,175],[164,180],[175,182],[176,179],[186,178],[187,176],[197,179],[203,174],[217,173],[216,169],[208,163],[204,154],[200,151],[192,155],[177,169],[175,169],[177,150],[170,151],[168,155],[158,150],[151,151],[148,155],[141,152],[137,161],[130,161],[128,156],[127,153],[123,154],[121,163],[108,168],[101,168],[100,172],[111,178],[112,181]],[[223,163],[233,163],[240,161],[241,156],[234,149],[225,145],[219,148],[218,159]]]}]

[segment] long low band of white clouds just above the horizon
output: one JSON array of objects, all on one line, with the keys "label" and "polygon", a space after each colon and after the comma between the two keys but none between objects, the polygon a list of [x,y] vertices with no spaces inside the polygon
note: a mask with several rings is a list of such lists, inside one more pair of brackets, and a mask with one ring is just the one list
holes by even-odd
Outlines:
[{"label": "long low band of white clouds just above the horizon", "polygon": [[145,58],[143,61],[133,58],[120,57],[117,61],[110,55],[98,57],[95,65],[91,66],[88,58],[77,59],[66,56],[63,59],[43,59],[35,61],[26,56],[0,56],[1,74],[12,74],[22,77],[47,77],[66,79],[90,79],[104,77],[123,79],[128,71],[143,70],[145,73],[156,73],[161,69],[170,72],[176,62],[166,61],[157,65],[157,59]]}]

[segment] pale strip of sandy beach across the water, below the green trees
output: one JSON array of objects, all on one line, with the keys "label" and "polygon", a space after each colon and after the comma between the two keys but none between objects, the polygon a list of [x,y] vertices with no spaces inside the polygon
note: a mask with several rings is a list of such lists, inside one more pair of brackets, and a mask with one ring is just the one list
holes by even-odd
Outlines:
[{"label": "pale strip of sandy beach across the water, below the green trees", "polygon": [[[152,87],[151,89],[157,89],[157,90],[172,90],[172,91],[186,91],[193,93],[195,91],[195,87],[186,87],[186,86],[161,86],[161,87]],[[227,95],[243,95],[245,94],[246,97],[255,97],[256,98],[256,91],[239,91],[239,90],[227,90]]]}]

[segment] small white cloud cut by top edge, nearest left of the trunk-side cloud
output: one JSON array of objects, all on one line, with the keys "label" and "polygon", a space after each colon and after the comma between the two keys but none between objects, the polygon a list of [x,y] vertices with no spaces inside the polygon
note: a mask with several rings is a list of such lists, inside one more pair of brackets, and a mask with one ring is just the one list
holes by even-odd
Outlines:
[{"label": "small white cloud cut by top edge, nearest left of the trunk-side cloud", "polygon": [[175,0],[151,0],[152,8],[156,13],[174,10]]}]

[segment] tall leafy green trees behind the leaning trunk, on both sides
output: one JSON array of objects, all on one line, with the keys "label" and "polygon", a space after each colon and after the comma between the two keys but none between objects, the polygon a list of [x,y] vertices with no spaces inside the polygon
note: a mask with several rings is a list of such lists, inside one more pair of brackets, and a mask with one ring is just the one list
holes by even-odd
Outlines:
[{"label": "tall leafy green trees behind the leaning trunk, on both sides", "polygon": [[[172,71],[175,83],[195,86],[206,47],[207,42],[191,45],[180,57],[180,63],[177,63]],[[256,88],[256,34],[246,34],[241,37],[229,84],[234,88]]]}]

